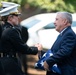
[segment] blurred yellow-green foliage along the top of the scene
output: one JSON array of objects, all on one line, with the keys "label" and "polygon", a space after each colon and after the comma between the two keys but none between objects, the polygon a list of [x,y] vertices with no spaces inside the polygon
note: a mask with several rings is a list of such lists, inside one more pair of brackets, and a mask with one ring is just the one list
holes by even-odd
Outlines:
[{"label": "blurred yellow-green foliage along the top of the scene", "polygon": [[1,0],[20,3],[21,6],[29,5],[31,8],[46,9],[47,12],[69,11],[76,12],[76,0]]}]

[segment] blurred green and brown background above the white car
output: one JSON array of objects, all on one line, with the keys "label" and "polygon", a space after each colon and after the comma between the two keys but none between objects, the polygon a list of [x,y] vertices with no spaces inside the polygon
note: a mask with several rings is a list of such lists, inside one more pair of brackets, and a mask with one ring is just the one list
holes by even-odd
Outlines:
[{"label": "blurred green and brown background above the white car", "polygon": [[68,11],[76,12],[75,0],[0,0],[19,3],[22,19],[39,13]]}]

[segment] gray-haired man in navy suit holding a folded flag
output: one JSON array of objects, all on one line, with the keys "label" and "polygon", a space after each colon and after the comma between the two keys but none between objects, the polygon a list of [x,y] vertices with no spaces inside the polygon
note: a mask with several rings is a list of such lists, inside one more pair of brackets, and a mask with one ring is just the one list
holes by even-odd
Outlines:
[{"label": "gray-haired man in navy suit holding a folded flag", "polygon": [[[49,71],[49,68],[57,64],[61,70],[61,75],[76,75],[76,35],[71,29],[72,15],[68,12],[58,12],[54,25],[60,34],[50,49],[53,56],[44,62],[46,75],[60,75]],[[36,45],[41,49],[40,44]]]}]

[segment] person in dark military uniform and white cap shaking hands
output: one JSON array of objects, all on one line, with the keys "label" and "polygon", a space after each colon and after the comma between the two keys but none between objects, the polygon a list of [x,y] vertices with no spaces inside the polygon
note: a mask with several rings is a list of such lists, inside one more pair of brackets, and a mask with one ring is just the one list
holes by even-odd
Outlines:
[{"label": "person in dark military uniform and white cap shaking hands", "polygon": [[[6,8],[0,11],[0,15],[4,18],[1,35],[1,57],[0,61],[4,69],[5,75],[24,75],[19,61],[16,57],[17,53],[37,54],[36,47],[28,47],[21,38],[21,32],[16,25],[19,25],[18,18],[20,13],[17,10],[18,4],[5,2]],[[10,6],[11,5],[11,6]]]}]

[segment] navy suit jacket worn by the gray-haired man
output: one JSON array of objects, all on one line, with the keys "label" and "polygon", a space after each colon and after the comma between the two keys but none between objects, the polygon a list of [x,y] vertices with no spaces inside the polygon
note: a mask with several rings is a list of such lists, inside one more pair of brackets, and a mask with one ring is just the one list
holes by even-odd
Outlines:
[{"label": "navy suit jacket worn by the gray-haired man", "polygon": [[[69,26],[58,36],[51,48],[54,55],[46,61],[49,67],[57,63],[58,67],[61,69],[62,75],[76,75],[75,43],[76,35]],[[50,72],[47,73],[47,75],[52,74]]]}]

